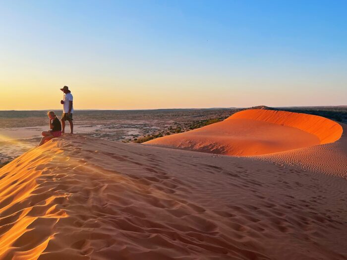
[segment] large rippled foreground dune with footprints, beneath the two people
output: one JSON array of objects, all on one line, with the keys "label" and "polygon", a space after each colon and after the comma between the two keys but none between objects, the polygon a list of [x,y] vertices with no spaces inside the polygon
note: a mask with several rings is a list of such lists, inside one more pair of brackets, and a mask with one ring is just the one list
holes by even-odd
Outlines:
[{"label": "large rippled foreground dune with footprints, beneath the two people", "polygon": [[0,259],[347,259],[346,136],[305,149],[54,139],[0,169]]}]

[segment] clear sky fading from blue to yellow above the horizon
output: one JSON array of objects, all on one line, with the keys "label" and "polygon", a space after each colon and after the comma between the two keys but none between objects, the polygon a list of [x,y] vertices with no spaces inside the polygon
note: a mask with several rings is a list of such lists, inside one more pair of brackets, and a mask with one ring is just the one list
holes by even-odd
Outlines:
[{"label": "clear sky fading from blue to yellow above the horizon", "polygon": [[0,0],[0,110],[347,105],[345,0]]}]

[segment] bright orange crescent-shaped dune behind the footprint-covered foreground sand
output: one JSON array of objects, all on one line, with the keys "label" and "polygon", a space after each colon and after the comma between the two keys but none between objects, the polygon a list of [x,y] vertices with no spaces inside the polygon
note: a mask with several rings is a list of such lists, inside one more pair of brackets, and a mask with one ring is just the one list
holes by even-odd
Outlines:
[{"label": "bright orange crescent-shaped dune behind the footprint-covered foreground sand", "polygon": [[337,141],[340,124],[315,115],[249,109],[226,120],[143,144],[229,156],[264,155]]}]

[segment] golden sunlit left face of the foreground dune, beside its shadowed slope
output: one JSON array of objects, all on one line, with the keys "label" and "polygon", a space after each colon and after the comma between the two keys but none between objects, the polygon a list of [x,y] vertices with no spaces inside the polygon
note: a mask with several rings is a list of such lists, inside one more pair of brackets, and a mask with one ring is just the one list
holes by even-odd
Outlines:
[{"label": "golden sunlit left face of the foreground dune, beside its shadowed slope", "polygon": [[[48,164],[54,155],[59,154],[59,150],[52,153],[48,150],[43,154],[42,150],[36,149],[29,153],[2,168],[0,215],[9,217],[0,217],[0,226],[7,223],[8,228],[1,230],[0,259],[9,259],[10,256],[18,260],[38,259],[54,238],[51,232],[53,227],[61,218],[67,217],[67,213],[58,206],[59,202],[66,199],[66,194],[51,191],[42,195],[38,190],[43,192],[48,189],[40,189],[40,181],[36,179],[45,176],[40,164]],[[33,161],[39,161],[40,164],[33,166]],[[35,229],[36,226],[44,228]],[[23,244],[25,246],[22,250],[14,252],[14,248]]]}]

